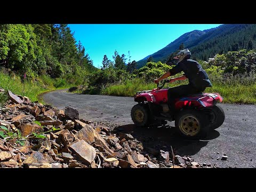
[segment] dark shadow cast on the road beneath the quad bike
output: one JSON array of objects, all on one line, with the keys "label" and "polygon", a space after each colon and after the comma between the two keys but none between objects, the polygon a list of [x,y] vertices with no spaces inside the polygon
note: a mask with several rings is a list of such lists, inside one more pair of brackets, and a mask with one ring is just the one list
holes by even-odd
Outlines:
[{"label": "dark shadow cast on the road beneath the quad bike", "polygon": [[144,152],[150,149],[169,151],[173,149],[174,155],[188,156],[195,155],[202,147],[205,147],[209,140],[219,137],[218,131],[211,131],[204,140],[183,139],[174,131],[173,126],[158,127],[135,127],[134,124],[127,124],[116,127],[114,132],[130,133],[135,139],[142,142]]}]

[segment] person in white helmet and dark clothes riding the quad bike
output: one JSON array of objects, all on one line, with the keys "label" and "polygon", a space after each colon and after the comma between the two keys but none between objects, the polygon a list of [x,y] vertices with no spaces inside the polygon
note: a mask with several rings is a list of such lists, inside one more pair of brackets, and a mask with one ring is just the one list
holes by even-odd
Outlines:
[{"label": "person in white helmet and dark clothes riding the quad bike", "polygon": [[190,57],[191,53],[188,49],[179,51],[173,58],[179,59],[177,65],[158,79],[154,80],[155,83],[158,83],[162,79],[176,75],[181,71],[184,72],[183,76],[171,78],[169,82],[172,83],[177,80],[185,80],[188,78],[189,84],[172,87],[168,90],[167,97],[171,111],[175,110],[175,99],[189,94],[202,93],[206,87],[212,86],[210,79],[202,66],[197,61],[190,59]]}]

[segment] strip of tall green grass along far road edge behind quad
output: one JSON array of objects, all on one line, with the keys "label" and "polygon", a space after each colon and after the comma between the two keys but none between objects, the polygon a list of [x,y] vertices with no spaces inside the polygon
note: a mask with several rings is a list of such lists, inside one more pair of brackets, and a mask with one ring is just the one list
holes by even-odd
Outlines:
[{"label": "strip of tall green grass along far road edge behind quad", "polygon": [[[211,77],[212,87],[207,87],[204,92],[219,93],[225,103],[256,104],[256,75],[225,74]],[[169,87],[187,84],[188,81],[177,81],[166,85]],[[154,83],[145,83],[142,79],[134,78],[119,85],[110,85],[101,91],[101,94],[133,97],[137,91],[152,90]]]}]

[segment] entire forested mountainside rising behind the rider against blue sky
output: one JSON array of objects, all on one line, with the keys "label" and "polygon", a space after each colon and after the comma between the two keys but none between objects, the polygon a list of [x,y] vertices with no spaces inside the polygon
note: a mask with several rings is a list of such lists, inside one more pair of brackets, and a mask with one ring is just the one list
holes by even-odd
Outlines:
[{"label": "entire forested mountainside rising behind the rider against blue sky", "polygon": [[[193,38],[189,38],[191,36]],[[155,62],[166,62],[181,44],[183,48],[191,51],[193,59],[205,61],[214,57],[215,54],[256,49],[256,25],[226,24],[201,31],[201,33],[198,30],[191,31],[151,54],[151,57]],[[137,62],[138,68],[145,66],[149,56]]]}]

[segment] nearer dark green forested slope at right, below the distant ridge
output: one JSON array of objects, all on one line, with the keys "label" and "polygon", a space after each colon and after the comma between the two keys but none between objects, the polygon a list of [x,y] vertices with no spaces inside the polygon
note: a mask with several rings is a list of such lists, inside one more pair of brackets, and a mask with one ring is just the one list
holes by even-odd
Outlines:
[{"label": "nearer dark green forested slope at right, below the distant ridge", "polygon": [[256,49],[256,25],[222,25],[188,44],[186,48],[188,47],[194,59],[205,61],[215,54]]}]

